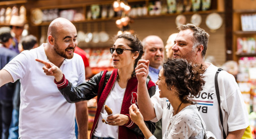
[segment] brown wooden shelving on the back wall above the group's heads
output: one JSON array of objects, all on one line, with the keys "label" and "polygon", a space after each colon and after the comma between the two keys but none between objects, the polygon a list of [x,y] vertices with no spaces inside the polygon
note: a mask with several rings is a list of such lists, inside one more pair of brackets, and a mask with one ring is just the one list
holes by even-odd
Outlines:
[{"label": "brown wooden shelving on the back wall above the group's heads", "polygon": [[[127,3],[130,6],[137,6],[137,5],[149,5],[150,2],[156,0],[127,0]],[[159,0],[164,2],[166,0]],[[25,2],[25,1],[24,1]],[[47,28],[50,22],[44,22],[39,25],[34,25],[31,22],[31,11],[33,9],[40,9],[40,10],[49,10],[49,9],[83,9],[84,15],[86,15],[86,11],[90,7],[90,5],[98,4],[98,5],[112,5],[114,0],[37,0],[37,1],[26,1],[24,4],[27,9],[27,20],[29,24],[29,33],[36,36],[38,40],[40,40],[41,36],[46,35]],[[201,28],[205,29],[207,32],[210,33],[211,39],[209,41],[209,48],[208,52],[209,55],[216,56],[216,61],[220,64],[225,62],[225,52],[219,53],[219,50],[225,49],[225,23],[223,23],[222,27],[218,29],[216,32],[211,33],[209,28],[205,24],[205,19],[208,14],[211,13],[219,13],[223,19],[225,19],[225,10],[224,10],[224,0],[212,0],[211,9],[208,11],[198,11],[198,12],[184,12],[181,13],[186,17],[187,23],[190,22],[190,18],[193,14],[197,13],[202,16],[202,24],[200,25]],[[139,39],[143,39],[148,35],[157,35],[159,36],[163,42],[165,43],[168,39],[168,36],[172,33],[176,33],[176,25],[175,25],[175,18],[179,15],[178,13],[174,14],[165,14],[159,16],[143,16],[143,17],[135,17],[132,18],[134,23],[131,24],[131,29],[135,31],[136,34],[139,35]],[[105,32],[109,34],[109,37],[112,38],[117,31],[119,30],[116,25],[115,21],[119,19],[119,17],[114,17],[111,19],[96,19],[96,20],[84,20],[73,22],[77,28],[77,31],[83,30],[85,33],[88,33],[88,26],[90,25],[90,31],[94,32],[95,27],[97,26],[97,31],[102,31],[101,24],[105,26]],[[96,24],[96,25],[95,25]],[[46,33],[45,33],[46,32]],[[218,41],[216,41],[218,40]],[[79,46],[83,49],[86,48],[103,48],[109,47],[112,45],[112,40],[109,39],[106,43],[86,43]],[[211,52],[211,53],[210,53]],[[207,54],[208,55],[208,54]]]}]

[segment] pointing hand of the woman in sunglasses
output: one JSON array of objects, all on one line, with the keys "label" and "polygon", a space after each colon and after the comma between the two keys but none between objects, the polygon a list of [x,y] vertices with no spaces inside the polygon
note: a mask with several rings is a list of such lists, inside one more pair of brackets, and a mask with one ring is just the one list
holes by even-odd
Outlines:
[{"label": "pointing hand of the woman in sunglasses", "polygon": [[61,72],[61,70],[55,66],[54,64],[50,63],[50,62],[46,62],[40,59],[36,59],[37,62],[40,62],[42,64],[44,64],[43,66],[43,70],[44,73],[48,76],[54,76],[55,80],[58,82],[62,79],[63,74]]}]

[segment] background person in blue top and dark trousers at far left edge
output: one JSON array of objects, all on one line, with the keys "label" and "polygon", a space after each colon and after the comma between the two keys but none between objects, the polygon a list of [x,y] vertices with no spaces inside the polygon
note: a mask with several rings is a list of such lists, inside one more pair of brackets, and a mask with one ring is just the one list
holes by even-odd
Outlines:
[{"label": "background person in blue top and dark trousers at far left edge", "polygon": [[[13,37],[9,27],[0,28],[0,69],[4,68],[17,53],[10,50]],[[16,83],[8,83],[0,87],[0,138],[7,139],[13,111],[13,95]]]}]

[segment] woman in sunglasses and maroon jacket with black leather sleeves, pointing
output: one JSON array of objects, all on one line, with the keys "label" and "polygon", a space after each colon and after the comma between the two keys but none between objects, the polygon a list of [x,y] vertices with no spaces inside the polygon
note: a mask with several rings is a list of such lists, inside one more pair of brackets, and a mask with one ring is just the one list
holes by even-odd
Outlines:
[{"label": "woman in sunglasses and maroon jacket with black leather sleeves, pointing", "polygon": [[[116,36],[112,54],[113,71],[102,71],[92,77],[88,82],[74,87],[54,65],[44,66],[46,75],[55,77],[54,82],[61,94],[68,102],[74,103],[89,100],[95,96],[97,110],[91,130],[91,138],[144,138],[140,128],[131,120],[129,107],[137,104],[138,80],[135,75],[135,67],[143,55],[141,41],[134,35],[122,34]],[[150,96],[155,93],[155,84],[148,81]],[[105,113],[104,105],[112,109],[113,115],[108,116],[106,123],[102,122],[100,113]],[[145,121],[147,127],[153,133],[155,123]]]}]

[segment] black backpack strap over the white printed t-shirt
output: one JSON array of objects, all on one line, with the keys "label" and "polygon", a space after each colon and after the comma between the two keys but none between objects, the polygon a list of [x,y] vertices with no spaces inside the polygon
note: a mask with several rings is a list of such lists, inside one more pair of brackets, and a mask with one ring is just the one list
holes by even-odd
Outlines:
[{"label": "black backpack strap over the white printed t-shirt", "polygon": [[216,90],[216,96],[218,99],[218,103],[219,103],[219,111],[220,111],[220,122],[222,125],[222,132],[223,132],[223,138],[226,139],[226,133],[224,131],[224,126],[223,126],[223,116],[222,116],[222,111],[221,111],[221,107],[220,107],[220,91],[219,91],[219,85],[218,85],[218,74],[222,71],[223,69],[218,68],[218,70],[216,71],[215,74],[215,90]]}]

